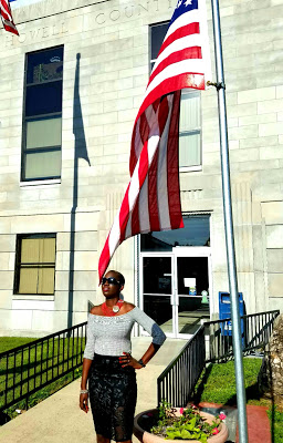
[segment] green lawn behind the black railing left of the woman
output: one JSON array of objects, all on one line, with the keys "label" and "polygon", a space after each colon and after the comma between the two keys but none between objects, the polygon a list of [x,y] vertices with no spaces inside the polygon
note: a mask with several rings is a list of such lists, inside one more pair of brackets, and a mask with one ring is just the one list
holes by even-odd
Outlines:
[{"label": "green lawn behind the black railing left of the woman", "polygon": [[[70,372],[72,368],[82,362],[82,353],[85,347],[84,338],[52,338],[38,343],[34,342],[34,339],[25,340],[32,341],[30,347],[15,352],[11,350],[8,357],[0,359],[0,408],[10,402],[15,404],[17,400],[21,401],[20,399],[28,392],[36,390],[35,393],[30,395],[29,404],[32,406],[33,399],[36,399],[34,400],[36,403],[67,384],[72,379],[72,372],[67,374],[65,372]],[[14,343],[15,341],[13,341]],[[19,346],[18,339],[15,346]],[[52,385],[55,378],[59,379],[54,382],[56,388]],[[7,400],[4,391],[7,392]],[[15,408],[13,406],[13,409]],[[18,406],[17,409],[23,408]]]}]

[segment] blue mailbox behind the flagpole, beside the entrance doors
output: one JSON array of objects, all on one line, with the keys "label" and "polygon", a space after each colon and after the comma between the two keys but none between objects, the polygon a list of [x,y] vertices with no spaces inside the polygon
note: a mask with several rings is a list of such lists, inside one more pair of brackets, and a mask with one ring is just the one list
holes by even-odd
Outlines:
[{"label": "blue mailbox behind the flagpole, beside the entrance doors", "polygon": [[[243,293],[239,292],[239,311],[240,317],[244,316]],[[219,320],[231,318],[231,300],[229,292],[219,292]],[[227,321],[221,323],[222,336],[232,336],[232,323]],[[244,321],[241,320],[242,344],[244,344]]]}]

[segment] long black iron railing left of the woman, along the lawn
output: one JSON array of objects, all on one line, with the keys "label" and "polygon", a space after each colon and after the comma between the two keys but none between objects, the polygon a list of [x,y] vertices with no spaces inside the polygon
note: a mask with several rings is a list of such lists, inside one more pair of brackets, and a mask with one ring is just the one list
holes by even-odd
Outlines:
[{"label": "long black iron railing left of the woman, along the lawn", "polygon": [[86,322],[0,353],[0,412],[83,362]]}]

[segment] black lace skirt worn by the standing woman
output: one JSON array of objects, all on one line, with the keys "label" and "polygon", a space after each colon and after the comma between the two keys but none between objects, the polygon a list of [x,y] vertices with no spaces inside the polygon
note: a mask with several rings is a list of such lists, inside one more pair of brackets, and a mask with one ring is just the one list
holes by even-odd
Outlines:
[{"label": "black lace skirt worn by the standing woman", "polygon": [[96,434],[116,442],[132,440],[137,400],[136,372],[118,357],[94,354],[88,377]]}]

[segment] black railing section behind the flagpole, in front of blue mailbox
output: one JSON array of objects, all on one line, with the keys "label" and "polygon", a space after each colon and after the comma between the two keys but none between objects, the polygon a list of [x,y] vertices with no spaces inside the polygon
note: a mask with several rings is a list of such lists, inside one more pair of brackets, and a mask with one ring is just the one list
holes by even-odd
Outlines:
[{"label": "black railing section behind the flagpole, in front of blue mailbox", "polygon": [[[273,330],[273,322],[280,311],[269,311],[242,316],[240,320],[242,350],[250,353],[264,349]],[[209,357],[207,362],[228,360],[233,357],[231,319],[209,321],[205,323],[209,336]]]}]

